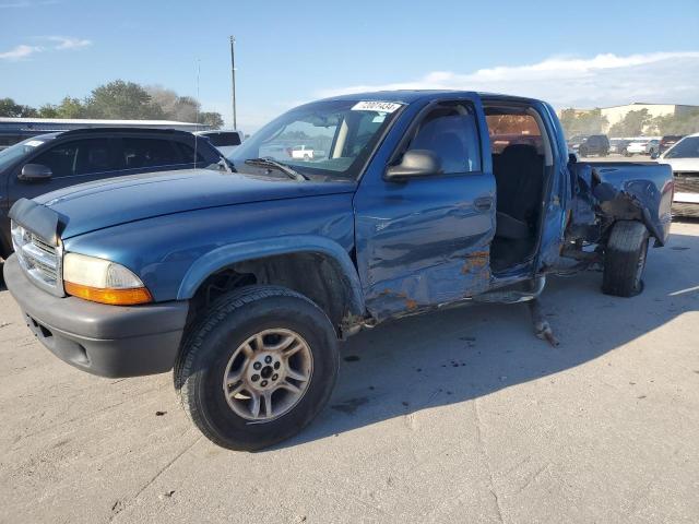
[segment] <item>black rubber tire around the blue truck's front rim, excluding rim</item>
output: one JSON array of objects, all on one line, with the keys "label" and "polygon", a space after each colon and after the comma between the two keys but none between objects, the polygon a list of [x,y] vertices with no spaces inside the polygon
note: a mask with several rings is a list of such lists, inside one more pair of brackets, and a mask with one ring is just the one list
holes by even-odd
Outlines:
[{"label": "black rubber tire around the blue truck's front rim, excluding rim", "polygon": [[[277,418],[251,424],[228,405],[223,377],[235,349],[265,329],[300,334],[312,354],[312,374],[298,403]],[[187,334],[175,366],[182,407],[209,440],[254,451],[288,439],[327,404],[339,369],[337,338],[325,313],[291,289],[251,286],[222,297]]]}]

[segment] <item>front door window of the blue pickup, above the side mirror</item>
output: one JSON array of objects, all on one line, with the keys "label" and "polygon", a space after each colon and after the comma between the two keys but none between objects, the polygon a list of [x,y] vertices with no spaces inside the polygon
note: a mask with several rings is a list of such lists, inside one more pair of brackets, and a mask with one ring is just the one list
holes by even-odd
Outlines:
[{"label": "front door window of the blue pickup, above the side mirror", "polygon": [[471,108],[438,107],[420,122],[410,150],[429,150],[441,159],[446,175],[481,170],[478,130]]}]

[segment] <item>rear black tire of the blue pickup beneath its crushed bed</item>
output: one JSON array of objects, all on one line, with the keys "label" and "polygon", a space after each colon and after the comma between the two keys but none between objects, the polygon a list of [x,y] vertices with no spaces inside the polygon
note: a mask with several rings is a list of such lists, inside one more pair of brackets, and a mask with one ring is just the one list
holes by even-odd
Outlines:
[{"label": "rear black tire of the blue pickup beneath its crushed bed", "polygon": [[604,252],[603,293],[633,297],[643,290],[648,242],[648,229],[640,222],[614,224]]}]

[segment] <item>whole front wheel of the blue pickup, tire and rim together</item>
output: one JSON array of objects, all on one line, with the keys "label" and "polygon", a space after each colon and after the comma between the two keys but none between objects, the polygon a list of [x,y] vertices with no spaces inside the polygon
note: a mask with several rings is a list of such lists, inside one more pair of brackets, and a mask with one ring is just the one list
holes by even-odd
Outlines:
[{"label": "whole front wheel of the blue pickup, tire and rim together", "polygon": [[325,313],[291,289],[242,288],[187,336],[175,368],[185,410],[212,442],[259,450],[293,437],[323,408],[337,376]]}]

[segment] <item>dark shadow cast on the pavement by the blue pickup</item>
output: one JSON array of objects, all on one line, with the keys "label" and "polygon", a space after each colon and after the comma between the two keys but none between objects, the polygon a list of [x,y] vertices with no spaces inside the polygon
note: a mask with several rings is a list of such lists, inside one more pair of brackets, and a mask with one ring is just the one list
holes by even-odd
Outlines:
[{"label": "dark shadow cast on the pavement by the blue pickup", "polygon": [[[436,406],[461,403],[570,369],[699,309],[699,237],[651,250],[645,290],[600,291],[602,274],[549,278],[544,313],[560,340],[533,334],[525,305],[473,303],[387,323],[341,346],[335,393],[293,446]],[[629,358],[632,358],[631,354]]]}]

